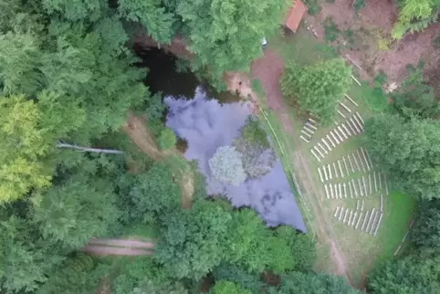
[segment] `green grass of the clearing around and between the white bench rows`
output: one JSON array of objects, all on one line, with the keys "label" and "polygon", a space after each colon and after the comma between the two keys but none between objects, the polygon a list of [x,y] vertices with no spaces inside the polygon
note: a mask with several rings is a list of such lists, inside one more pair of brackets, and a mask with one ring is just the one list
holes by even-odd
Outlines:
[{"label": "green grass of the clearing around and between the white bench rows", "polygon": [[[320,44],[304,27],[301,27],[295,35],[286,34],[284,37],[271,37],[269,38],[268,44],[271,49],[278,51],[285,60],[295,60],[295,62],[300,65],[310,65],[320,60],[337,57],[336,51],[332,47]],[[260,93],[260,90],[257,90],[257,92]],[[378,89],[370,87],[368,83],[362,83],[360,87],[353,82],[348,95],[359,104],[359,107],[355,107],[349,100],[344,100],[344,103],[348,105],[351,110],[359,111],[364,121],[371,117],[373,113],[388,108],[386,96],[378,91]],[[286,102],[293,127],[299,132],[305,118],[300,118],[297,112],[289,105],[288,101]],[[262,104],[264,105],[264,102]],[[261,121],[264,120],[262,119]],[[342,122],[344,119],[338,115],[336,121]],[[351,282],[354,286],[361,286],[366,273],[371,270],[371,268],[383,261],[393,258],[393,253],[406,233],[409,221],[414,216],[414,199],[408,195],[399,194],[397,192],[392,192],[386,196],[384,198],[382,225],[376,237],[343,225],[333,217],[334,211],[337,206],[349,207],[351,209],[355,208],[356,199],[327,200],[325,198],[323,184],[320,183],[317,169],[322,164],[334,163],[341,159],[342,155],[360,148],[361,137],[351,137],[348,141],[334,148],[322,163],[318,163],[309,152],[309,149],[319,142],[320,138],[335,126],[334,124],[326,128],[321,127],[315,132],[313,140],[306,143],[299,138],[291,138],[288,136],[288,133],[283,130],[281,121],[279,121],[278,117],[271,111],[267,111],[267,122],[271,125],[269,133],[271,133],[271,131],[275,132],[278,141],[283,146],[285,154],[280,156],[280,158],[288,174],[292,172],[296,174],[301,173],[301,171],[296,170],[296,167],[293,165],[292,158],[294,152],[301,152],[307,158],[311,171],[313,172],[312,177],[314,184],[320,188],[320,195],[311,196],[315,197],[314,200],[320,204],[322,213],[331,219],[330,235],[338,241],[340,249],[348,259],[347,266]],[[271,135],[273,136],[272,133]],[[278,153],[280,153],[279,148]],[[351,173],[350,177],[346,176],[343,180],[339,180],[340,183],[347,183],[348,179],[357,179],[360,178],[361,175],[368,175],[368,173]],[[337,181],[331,182],[338,183]],[[300,187],[301,183],[299,183],[299,188]],[[381,193],[375,193],[362,198],[365,200],[364,211],[380,206],[380,194]],[[307,212],[305,215],[309,222],[309,227],[316,228],[316,219],[312,216],[313,214],[309,209],[307,199],[300,198],[299,204],[303,206],[302,211]],[[319,253],[317,267],[322,270],[330,270],[329,247],[325,246],[325,244],[318,244],[317,249]]]}]

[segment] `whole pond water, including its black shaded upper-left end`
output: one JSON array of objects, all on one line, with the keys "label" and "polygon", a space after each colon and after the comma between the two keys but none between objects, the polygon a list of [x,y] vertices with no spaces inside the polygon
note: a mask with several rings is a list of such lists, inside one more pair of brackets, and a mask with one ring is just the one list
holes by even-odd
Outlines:
[{"label": "whole pond water, including its black shaded upper-left end", "polygon": [[[188,160],[197,161],[200,172],[206,176],[208,194],[224,194],[236,207],[252,207],[268,226],[290,225],[306,232],[299,206],[278,158],[267,174],[247,178],[237,186],[221,183],[213,177],[208,161],[218,147],[230,146],[240,136],[240,130],[251,115],[249,105],[227,93],[220,95],[222,99],[218,100],[192,74],[175,73],[173,57],[158,50],[150,54],[162,55],[147,62],[155,75],[154,79],[147,79],[149,83],[160,81],[155,83],[154,90],[162,91],[169,107],[166,125],[187,142],[183,155]],[[160,65],[157,60],[161,60]],[[155,66],[160,66],[162,77],[157,76]],[[190,94],[189,89],[194,89],[193,93]]]}]

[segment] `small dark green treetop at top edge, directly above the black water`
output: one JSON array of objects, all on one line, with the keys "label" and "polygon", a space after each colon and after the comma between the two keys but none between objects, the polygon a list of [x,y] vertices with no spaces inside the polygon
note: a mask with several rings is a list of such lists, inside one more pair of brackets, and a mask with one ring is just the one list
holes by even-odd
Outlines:
[{"label": "small dark green treetop at top edge, directly above the black water", "polygon": [[141,23],[159,43],[171,43],[173,15],[167,13],[159,1],[120,0],[118,5],[120,16]]}]

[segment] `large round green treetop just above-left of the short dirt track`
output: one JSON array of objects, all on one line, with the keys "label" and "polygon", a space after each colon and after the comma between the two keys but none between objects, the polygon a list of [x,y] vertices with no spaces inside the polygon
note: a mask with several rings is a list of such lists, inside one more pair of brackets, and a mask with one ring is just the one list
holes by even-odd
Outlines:
[{"label": "large round green treetop just above-left of the short dirt track", "polygon": [[104,235],[118,218],[115,197],[109,181],[71,177],[34,199],[33,220],[43,237],[77,249],[90,238]]}]

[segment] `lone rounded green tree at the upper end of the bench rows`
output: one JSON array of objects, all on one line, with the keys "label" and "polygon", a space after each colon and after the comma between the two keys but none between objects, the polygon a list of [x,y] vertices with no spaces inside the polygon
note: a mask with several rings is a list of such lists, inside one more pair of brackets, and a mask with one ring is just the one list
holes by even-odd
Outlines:
[{"label": "lone rounded green tree at the upper end of the bench rows", "polygon": [[338,100],[350,84],[351,68],[340,58],[304,68],[290,62],[281,79],[281,89],[288,100],[319,116],[322,123],[333,121]]}]

